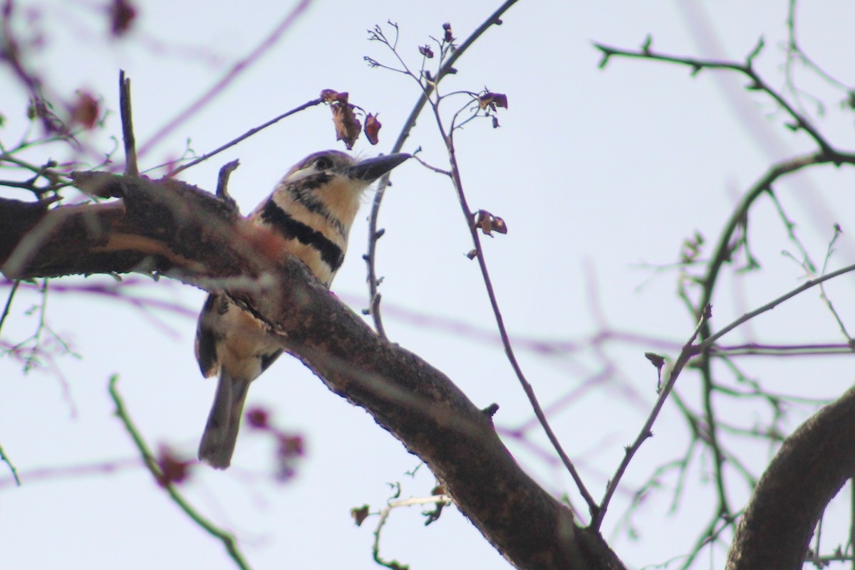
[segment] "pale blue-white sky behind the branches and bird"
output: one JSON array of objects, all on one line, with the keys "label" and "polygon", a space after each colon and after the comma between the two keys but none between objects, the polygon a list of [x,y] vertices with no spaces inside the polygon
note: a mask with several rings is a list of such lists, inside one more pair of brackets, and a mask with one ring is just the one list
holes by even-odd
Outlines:
[{"label": "pale blue-white sky behind the branches and bird", "polygon": [[[29,27],[44,31],[44,46],[29,64],[45,78],[49,92],[70,97],[74,90],[103,96],[111,109],[104,130],[85,141],[108,153],[110,137],[121,136],[118,120],[119,69],[132,80],[134,125],[139,147],[194,102],[245,57],[279,22],[291,3],[250,0],[208,3],[140,0],[139,20],[127,38],[106,33],[100,3],[19,0]],[[804,133],[792,133],[785,117],[763,94],[746,92],[746,80],[639,60],[610,61],[598,68],[592,42],[637,48],[647,34],[653,48],[674,55],[743,61],[761,36],[765,49],[756,61],[769,84],[781,87],[785,58],[786,2],[599,2],[521,1],[457,63],[445,83],[451,90],[505,93],[501,127],[469,123],[457,132],[457,156],[469,205],[504,218],[509,233],[485,237],[486,259],[510,334],[519,340],[522,367],[545,407],[588,386],[550,420],[587,486],[601,497],[622,449],[638,433],[656,397],[655,369],[644,358],[653,351],[674,358],[695,323],[677,298],[678,276],[657,267],[675,263],[681,244],[699,231],[709,252],[718,231],[746,189],[772,161],[814,148]],[[439,37],[451,22],[466,38],[498,2],[401,3],[376,0],[334,3],[315,0],[280,41],[219,96],[140,156],[141,168],[173,160],[189,146],[198,154],[297,107],[322,89],[348,91],[351,101],[379,112],[380,143],[360,139],[354,152],[388,152],[416,102],[416,84],[404,75],[370,69],[363,55],[395,63],[384,46],[367,40],[375,24],[397,22],[402,57],[418,67],[417,47]],[[799,9],[799,41],[835,77],[852,84],[851,3],[807,4]],[[841,110],[840,91],[797,68],[797,82],[826,102],[818,117],[809,96],[806,111],[828,139],[855,145],[852,113]],[[15,143],[26,129],[27,99],[7,67],[0,67],[0,135]],[[450,102],[449,109],[463,105]],[[188,143],[189,141],[189,143]],[[336,143],[327,108],[285,119],[245,143],[183,172],[182,178],[215,189],[216,173],[239,158],[231,194],[244,212],[268,195],[286,170],[306,154]],[[404,151],[422,148],[422,158],[447,168],[445,149],[433,119],[422,115]],[[65,151],[52,148],[55,158]],[[44,151],[27,154],[44,161]],[[92,157],[96,160],[96,157]],[[115,154],[121,165],[121,153]],[[153,174],[154,175],[154,174]],[[6,177],[5,174],[0,177]],[[451,184],[416,161],[400,166],[386,193],[380,226],[378,270],[386,329],[392,340],[441,369],[476,405],[498,403],[499,428],[527,425],[532,412],[504,358],[477,264],[466,258],[469,232]],[[811,259],[822,265],[838,223],[844,234],[829,262],[853,263],[855,201],[847,169],[815,169],[776,188],[781,205]],[[4,196],[9,193],[4,192]],[[73,192],[68,198],[75,198]],[[369,199],[351,232],[345,265],[333,291],[355,311],[367,306],[365,251]],[[758,202],[749,226],[752,253],[763,271],[737,274],[728,267],[714,300],[714,329],[799,285],[805,270],[782,251],[796,253],[768,199]],[[740,258],[744,264],[744,257]],[[133,420],[153,448],[168,445],[194,457],[215,381],[203,381],[193,358],[195,312],[203,293],[175,282],[139,283],[134,295],[165,300],[186,311],[133,308],[127,302],[91,294],[49,297],[48,323],[80,358],[56,358],[56,369],[24,375],[21,363],[0,358],[0,445],[18,468],[23,485],[12,485],[0,464],[0,537],[4,568],[232,568],[221,544],[189,521],[144,470],[128,434],[113,415],[109,377]],[[52,282],[111,284],[109,277]],[[827,293],[849,329],[855,329],[852,277],[828,284]],[[5,300],[8,288],[3,288]],[[36,329],[38,311],[25,312],[38,297],[20,293],[3,326],[4,343],[16,343]],[[4,302],[4,301],[3,301]],[[451,324],[449,324],[451,323]],[[646,337],[612,342],[601,349],[586,343],[606,328]],[[527,340],[560,341],[578,350],[546,356],[527,350]],[[727,344],[834,342],[845,339],[834,318],[811,291],[758,317],[726,337]],[[670,344],[664,344],[668,341]],[[851,360],[831,358],[742,358],[752,380],[775,393],[833,398],[852,381]],[[722,366],[722,379],[733,372]],[[586,384],[586,382],[588,384]],[[730,384],[734,381],[728,380]],[[744,385],[741,385],[744,386]],[[681,376],[678,391],[700,409],[699,377]],[[728,422],[761,425],[768,410],[759,404],[717,400]],[[428,495],[433,477],[426,468],[406,473],[410,456],[363,410],[327,391],[292,358],[280,358],[253,384],[249,406],[274,412],[281,428],[301,433],[306,457],[296,478],[278,484],[270,476],[269,442],[244,429],[233,467],[226,472],[199,466],[180,488],[215,524],[234,532],[247,561],[256,568],[374,568],[372,531],[376,517],[361,528],[349,510],[382,506],[400,481],[402,496]],[[732,406],[728,408],[728,406]],[[815,410],[793,409],[787,428]],[[695,456],[681,508],[669,515],[675,477],[648,497],[633,519],[640,537],[628,537],[623,518],[632,493],[663,462],[687,449],[686,424],[666,404],[625,476],[604,522],[604,536],[629,567],[663,564],[691,550],[710,520],[715,497],[707,477],[708,457]],[[548,450],[539,428],[529,432],[537,449]],[[572,481],[554,459],[545,461],[534,445],[509,440],[517,460],[556,496],[569,493],[581,506]],[[774,450],[764,443],[733,445],[758,475]],[[554,457],[554,454],[551,455]],[[110,473],[92,466],[112,465]],[[77,474],[77,468],[83,468]],[[731,474],[734,509],[748,489]],[[835,510],[837,509],[837,510]],[[392,513],[382,552],[416,568],[506,568],[508,564],[456,509],[422,526],[419,508]],[[837,511],[840,511],[838,513]],[[846,532],[846,506],[823,532]],[[829,538],[829,543],[833,542]],[[705,551],[696,567],[723,567],[724,551]]]}]

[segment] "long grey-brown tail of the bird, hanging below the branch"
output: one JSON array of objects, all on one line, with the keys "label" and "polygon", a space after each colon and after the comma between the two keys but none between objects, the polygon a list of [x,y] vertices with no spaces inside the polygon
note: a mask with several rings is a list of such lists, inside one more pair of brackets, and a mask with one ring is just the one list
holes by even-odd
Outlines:
[{"label": "long grey-brown tail of the bird, hanging below the branch", "polygon": [[232,462],[249,387],[250,381],[234,378],[225,368],[220,370],[214,405],[199,444],[199,459],[213,468],[225,469]]}]

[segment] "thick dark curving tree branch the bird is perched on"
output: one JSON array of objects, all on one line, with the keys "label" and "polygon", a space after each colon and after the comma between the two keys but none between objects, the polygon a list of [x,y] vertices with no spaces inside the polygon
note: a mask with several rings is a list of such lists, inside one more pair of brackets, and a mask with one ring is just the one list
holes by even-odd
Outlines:
[{"label": "thick dark curving tree branch the bird is perched on", "polygon": [[334,393],[374,419],[432,469],[457,506],[519,568],[622,568],[598,532],[516,464],[489,414],[412,352],[381,339],[353,311],[282,257],[275,236],[215,196],[176,180],[101,172],[75,183],[120,201],[51,210],[0,202],[10,278],[138,271],[229,294]]}]

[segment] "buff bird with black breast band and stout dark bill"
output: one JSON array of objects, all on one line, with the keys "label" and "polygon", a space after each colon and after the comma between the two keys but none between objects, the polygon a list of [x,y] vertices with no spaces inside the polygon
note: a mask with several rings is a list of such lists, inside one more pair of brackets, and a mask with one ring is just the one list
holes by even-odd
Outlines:
[{"label": "buff bird with black breast band and stout dark bill", "polygon": [[[247,219],[284,238],[275,242],[329,288],[345,259],[364,191],[409,158],[395,153],[357,160],[338,150],[310,154],[286,172]],[[213,468],[231,464],[250,383],[282,353],[265,331],[261,321],[225,294],[209,294],[199,314],[199,369],[205,378],[219,375],[198,450],[199,459]]]}]

